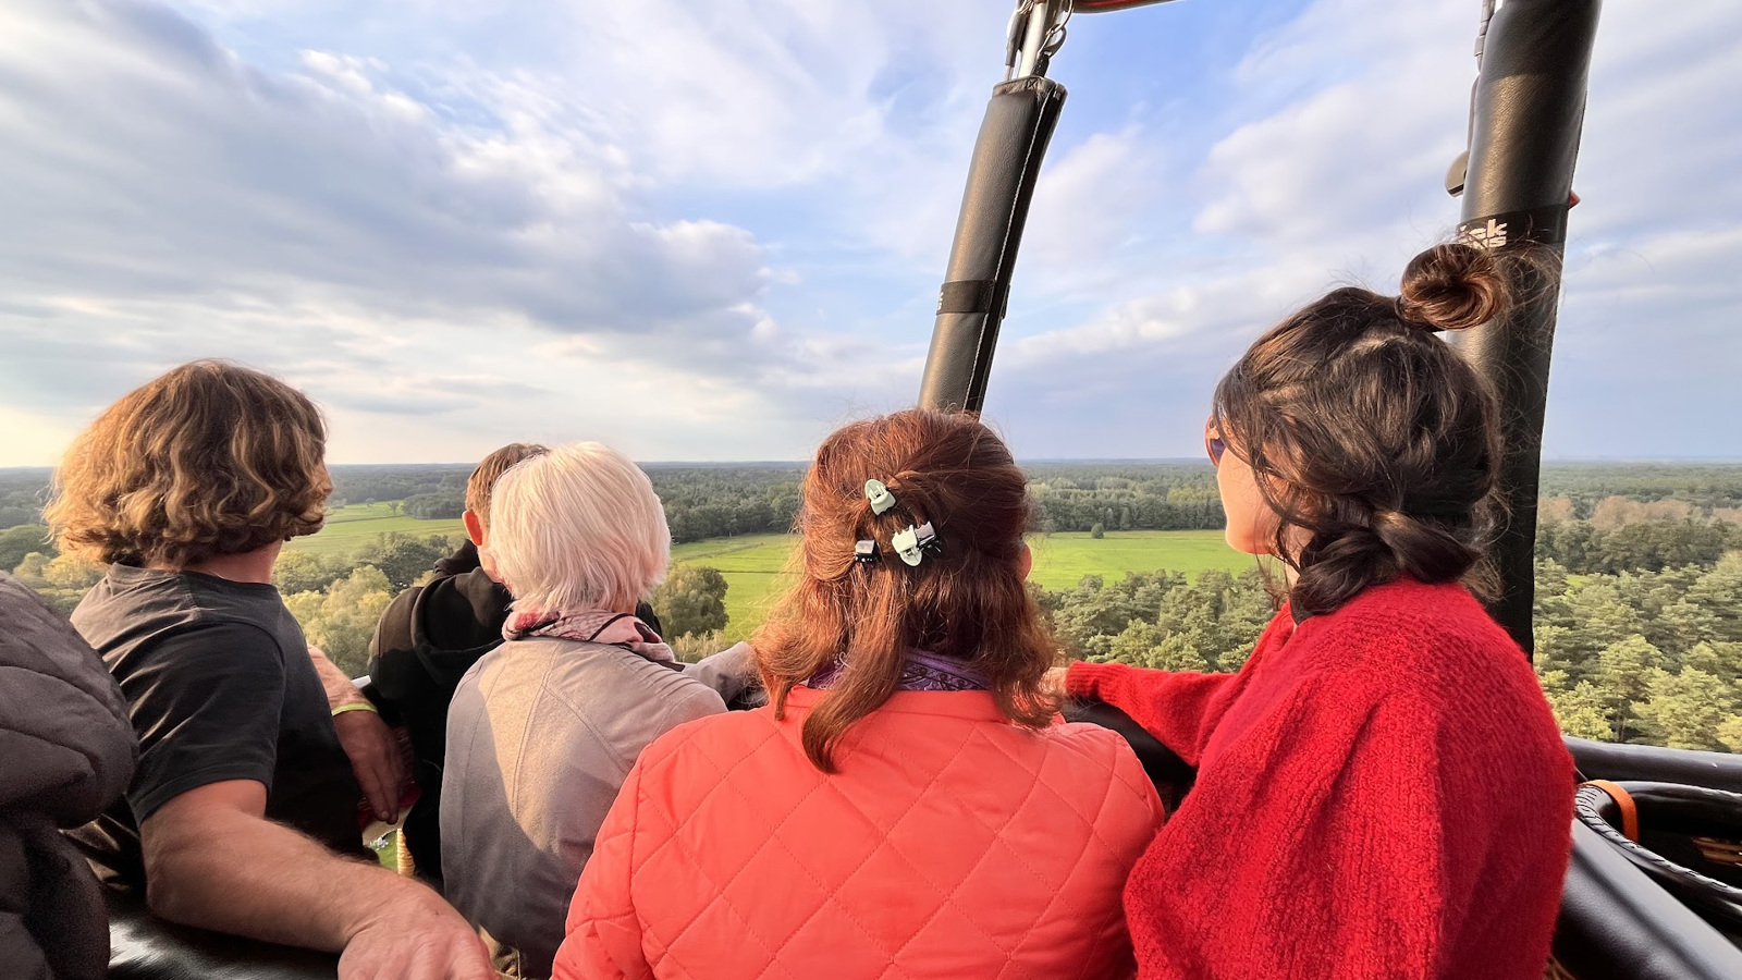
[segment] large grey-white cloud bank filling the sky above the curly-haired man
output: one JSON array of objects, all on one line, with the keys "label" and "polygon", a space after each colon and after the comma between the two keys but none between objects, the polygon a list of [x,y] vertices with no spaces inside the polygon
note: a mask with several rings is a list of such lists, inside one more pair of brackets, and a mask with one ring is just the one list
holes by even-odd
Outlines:
[{"label": "large grey-white cloud bank filling the sky above the curly-haired man", "polygon": [[[753,234],[660,218],[610,148],[530,99],[486,131],[394,89],[378,59],[310,51],[270,75],[138,3],[14,5],[0,38],[0,377],[10,399],[57,405],[63,427],[221,354],[307,384],[338,417],[415,408],[432,420],[418,459],[458,412],[488,406],[500,425],[575,385],[632,398],[638,363],[667,382],[645,415],[683,425],[718,375],[754,385],[791,357],[758,342]],[[563,333],[594,356],[526,382],[517,350]],[[38,453],[9,439],[0,455]]]}]

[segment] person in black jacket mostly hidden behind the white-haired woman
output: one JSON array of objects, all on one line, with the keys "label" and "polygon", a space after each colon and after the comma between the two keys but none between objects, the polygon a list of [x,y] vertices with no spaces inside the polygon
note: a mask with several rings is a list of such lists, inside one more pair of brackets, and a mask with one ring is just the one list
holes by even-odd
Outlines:
[{"label": "person in black jacket mostly hidden behind the white-haired woman", "polygon": [[[490,558],[490,500],[512,466],[550,452],[510,443],[484,457],[465,483],[465,544],[436,563],[436,577],[399,593],[369,640],[369,696],[381,715],[404,725],[420,797],[402,837],[418,875],[439,882],[441,767],[448,752],[448,704],[465,671],[502,643],[514,596],[496,581]],[[658,631],[641,603],[636,616]]]}]

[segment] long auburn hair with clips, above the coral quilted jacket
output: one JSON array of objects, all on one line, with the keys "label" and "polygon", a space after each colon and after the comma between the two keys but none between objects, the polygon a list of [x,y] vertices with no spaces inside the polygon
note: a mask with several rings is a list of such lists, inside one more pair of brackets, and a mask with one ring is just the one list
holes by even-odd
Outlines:
[{"label": "long auburn hair with clips, above the coral quilted jacket", "polygon": [[[873,513],[868,480],[883,481],[897,506]],[[817,769],[834,771],[836,743],[894,694],[915,649],[984,675],[1012,722],[1052,720],[1059,706],[1042,677],[1059,652],[1023,581],[1026,490],[1010,450],[967,413],[897,412],[822,443],[796,523],[798,582],[751,642],[777,715],[794,685],[843,664],[805,718],[805,753]],[[890,537],[923,521],[942,553],[908,567]],[[874,541],[880,560],[857,561],[859,541]]]}]

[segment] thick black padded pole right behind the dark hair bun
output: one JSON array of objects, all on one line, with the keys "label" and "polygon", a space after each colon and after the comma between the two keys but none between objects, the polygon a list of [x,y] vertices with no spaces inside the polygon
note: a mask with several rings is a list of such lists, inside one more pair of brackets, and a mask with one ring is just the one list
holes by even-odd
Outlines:
[{"label": "thick black padded pole right behind the dark hair bun", "polygon": [[[1472,108],[1463,220],[1566,206],[1585,117],[1599,0],[1507,0],[1488,26]],[[1500,401],[1500,493],[1507,527],[1489,549],[1502,595],[1489,607],[1526,652],[1535,602],[1536,488],[1561,244],[1496,249],[1517,300],[1455,335]]]}]

